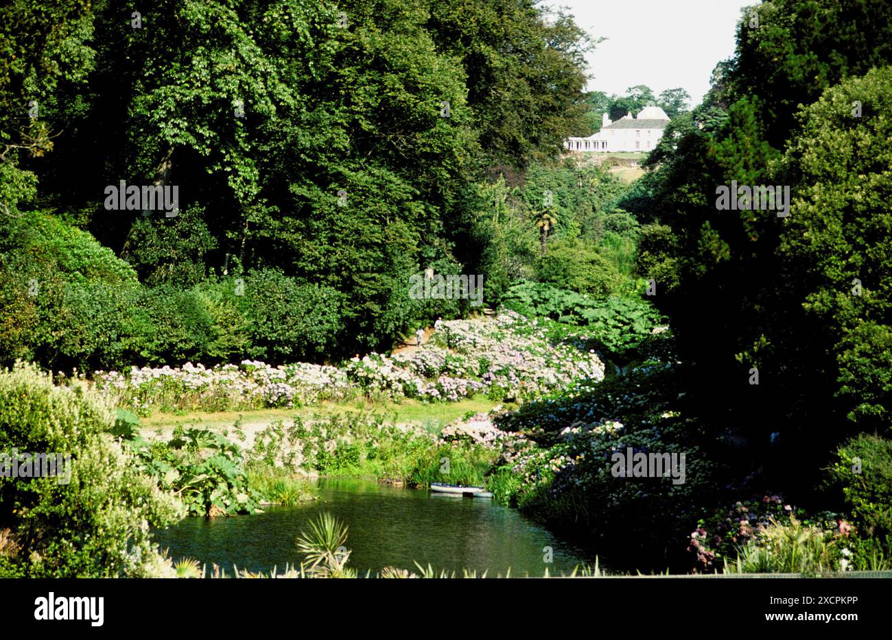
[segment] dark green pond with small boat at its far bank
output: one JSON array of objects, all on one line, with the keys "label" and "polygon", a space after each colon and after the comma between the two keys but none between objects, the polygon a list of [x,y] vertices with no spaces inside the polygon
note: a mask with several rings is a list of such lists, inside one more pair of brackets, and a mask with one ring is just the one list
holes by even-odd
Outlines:
[{"label": "dark green pond with small boat at its far bank", "polygon": [[[155,539],[174,560],[194,558],[232,572],[268,571],[296,564],[294,539],[319,513],[329,512],[348,525],[348,566],[381,570],[385,566],[435,570],[476,570],[478,575],[541,577],[569,574],[593,563],[574,546],[491,499],[432,495],[427,490],[392,488],[374,480],[319,480],[319,499],[293,507],[269,506],[265,513],[232,518],[186,518],[157,531]],[[551,547],[552,562],[544,562]]]}]

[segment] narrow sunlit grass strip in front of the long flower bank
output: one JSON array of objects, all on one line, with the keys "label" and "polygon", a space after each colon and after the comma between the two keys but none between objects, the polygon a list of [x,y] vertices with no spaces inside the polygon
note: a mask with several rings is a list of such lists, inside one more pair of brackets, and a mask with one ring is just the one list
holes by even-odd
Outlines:
[{"label": "narrow sunlit grass strip in front of the long flower bank", "polygon": [[194,411],[183,414],[155,413],[141,418],[143,429],[173,429],[177,425],[202,425],[203,427],[231,426],[242,417],[243,423],[272,423],[275,420],[288,420],[295,416],[311,418],[314,414],[348,414],[366,412],[384,415],[397,423],[418,423],[429,431],[440,431],[444,426],[468,412],[487,412],[500,403],[489,398],[467,398],[459,402],[422,403],[405,400],[401,403],[373,403],[356,401],[349,403],[326,402],[314,406],[301,406],[293,409],[259,409],[256,411],[220,411],[208,413]]}]

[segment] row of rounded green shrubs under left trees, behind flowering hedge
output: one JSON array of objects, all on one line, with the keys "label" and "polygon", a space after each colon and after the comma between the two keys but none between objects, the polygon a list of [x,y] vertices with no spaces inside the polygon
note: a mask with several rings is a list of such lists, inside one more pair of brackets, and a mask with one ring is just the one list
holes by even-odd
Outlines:
[{"label": "row of rounded green shrubs under left trees, behind flowering hedge", "polygon": [[[127,262],[90,234],[44,213],[21,216],[0,220],[2,365],[28,359],[83,371],[244,357],[282,363],[319,360],[337,347],[343,295],[335,289],[270,269],[183,289],[202,277],[203,267],[159,263],[153,251],[170,239],[151,234],[161,244],[137,253],[157,267],[150,281],[161,284],[145,288]],[[174,234],[166,224],[136,226]]]}]

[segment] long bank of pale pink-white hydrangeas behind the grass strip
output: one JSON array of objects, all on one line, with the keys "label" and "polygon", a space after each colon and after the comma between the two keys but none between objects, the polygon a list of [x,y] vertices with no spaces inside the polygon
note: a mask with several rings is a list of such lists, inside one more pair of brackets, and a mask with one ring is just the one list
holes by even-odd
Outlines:
[{"label": "long bank of pale pink-white hydrangeas behind the grass strip", "polygon": [[582,339],[553,341],[538,321],[508,311],[493,320],[444,322],[432,341],[411,353],[372,353],[340,366],[186,363],[133,367],[129,375],[98,371],[94,381],[119,406],[146,415],[293,407],[360,396],[455,402],[486,393],[523,401],[603,377],[603,363]]}]

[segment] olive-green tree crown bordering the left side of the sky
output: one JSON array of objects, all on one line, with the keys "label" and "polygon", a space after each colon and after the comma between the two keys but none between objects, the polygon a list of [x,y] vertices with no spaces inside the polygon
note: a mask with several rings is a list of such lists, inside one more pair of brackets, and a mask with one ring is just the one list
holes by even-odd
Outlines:
[{"label": "olive-green tree crown bordering the left side of the sky", "polygon": [[557,155],[588,107],[586,53],[598,44],[534,0],[427,0],[440,51],[467,74],[467,105],[489,164],[524,168]]}]

